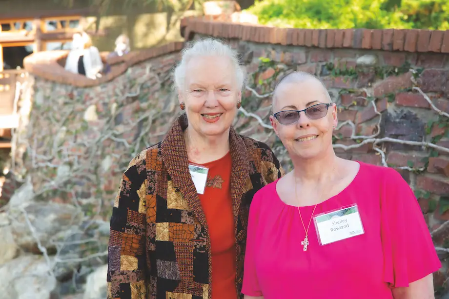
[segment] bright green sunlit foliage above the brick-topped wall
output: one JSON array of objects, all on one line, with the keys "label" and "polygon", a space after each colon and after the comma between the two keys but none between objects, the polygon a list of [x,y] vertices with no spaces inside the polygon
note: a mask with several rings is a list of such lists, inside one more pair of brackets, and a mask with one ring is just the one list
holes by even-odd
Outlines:
[{"label": "bright green sunlit foliage above the brick-topped wall", "polygon": [[449,29],[448,0],[256,0],[247,11],[278,27]]}]

